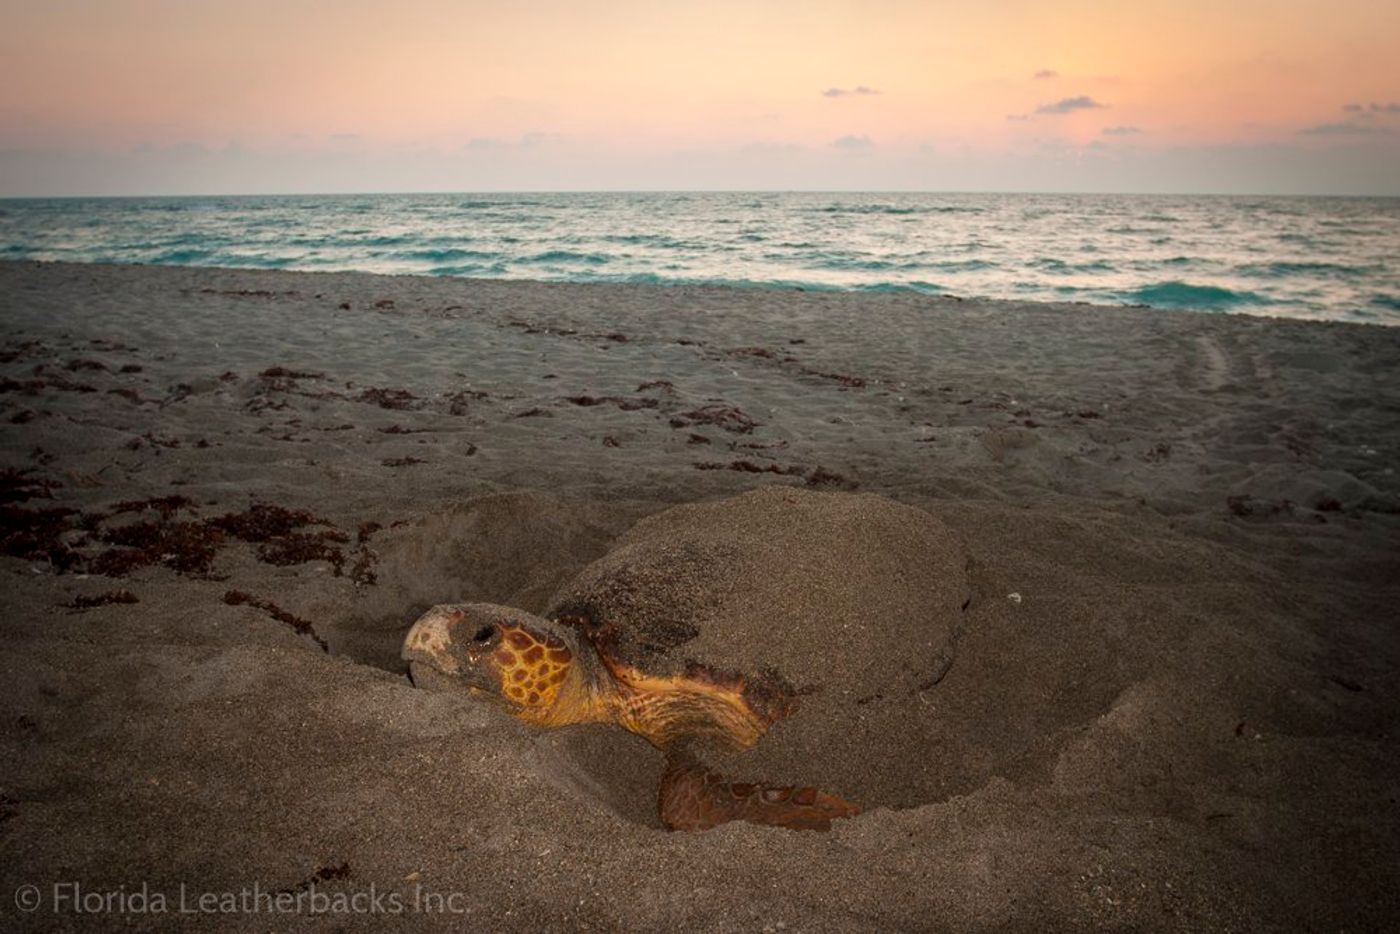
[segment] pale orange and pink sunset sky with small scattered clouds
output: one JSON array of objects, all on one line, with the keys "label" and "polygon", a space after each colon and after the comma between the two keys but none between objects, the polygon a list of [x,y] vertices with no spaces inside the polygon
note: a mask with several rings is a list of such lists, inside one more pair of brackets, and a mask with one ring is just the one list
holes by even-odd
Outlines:
[{"label": "pale orange and pink sunset sky with small scattered clouds", "polygon": [[0,196],[1400,195],[1396,0],[0,0]]}]

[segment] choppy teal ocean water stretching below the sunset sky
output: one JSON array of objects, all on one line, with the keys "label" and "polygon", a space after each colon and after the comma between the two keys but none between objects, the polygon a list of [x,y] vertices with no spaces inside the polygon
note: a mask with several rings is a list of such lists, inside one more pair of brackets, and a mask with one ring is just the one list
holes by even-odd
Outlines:
[{"label": "choppy teal ocean water stretching below the sunset sky", "polygon": [[0,200],[0,259],[713,283],[1400,325],[1400,199],[972,193]]}]

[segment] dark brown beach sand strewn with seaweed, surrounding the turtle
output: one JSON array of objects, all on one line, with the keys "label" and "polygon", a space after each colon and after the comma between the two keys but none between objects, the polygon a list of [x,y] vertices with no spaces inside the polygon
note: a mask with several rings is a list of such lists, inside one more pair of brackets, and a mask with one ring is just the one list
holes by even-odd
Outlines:
[{"label": "dark brown beach sand strewn with seaweed, surrounding the turtle", "polygon": [[[1400,330],[57,263],[0,322],[7,928],[1400,921]],[[767,753],[860,818],[668,833],[644,742],[405,679],[423,608],[770,485],[966,556],[917,716]]]}]

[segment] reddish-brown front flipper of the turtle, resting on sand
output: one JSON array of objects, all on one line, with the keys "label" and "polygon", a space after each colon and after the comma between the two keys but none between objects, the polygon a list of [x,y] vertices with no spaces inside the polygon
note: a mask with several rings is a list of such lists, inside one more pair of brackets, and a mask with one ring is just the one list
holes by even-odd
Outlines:
[{"label": "reddish-brown front flipper of the turtle, resting on sand", "polygon": [[830,830],[832,821],[861,812],[858,805],[812,787],[728,781],[683,752],[666,758],[657,804],[661,822],[672,830],[708,830],[729,821]]}]

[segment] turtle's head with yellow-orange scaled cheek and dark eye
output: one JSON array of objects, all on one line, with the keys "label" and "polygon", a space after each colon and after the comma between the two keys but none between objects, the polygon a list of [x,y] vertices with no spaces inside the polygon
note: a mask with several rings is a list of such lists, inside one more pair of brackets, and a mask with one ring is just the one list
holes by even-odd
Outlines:
[{"label": "turtle's head with yellow-orange scaled cheek and dark eye", "polygon": [[528,723],[596,720],[589,653],[568,629],[507,606],[445,604],[403,640],[413,683],[487,697]]}]

